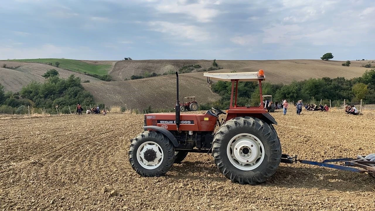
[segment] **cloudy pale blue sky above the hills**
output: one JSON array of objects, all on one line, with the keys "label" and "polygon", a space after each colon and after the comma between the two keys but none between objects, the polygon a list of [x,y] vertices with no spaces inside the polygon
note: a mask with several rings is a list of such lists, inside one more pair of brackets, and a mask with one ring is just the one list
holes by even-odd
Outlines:
[{"label": "cloudy pale blue sky above the hills", "polygon": [[375,59],[374,0],[9,0],[0,59]]}]

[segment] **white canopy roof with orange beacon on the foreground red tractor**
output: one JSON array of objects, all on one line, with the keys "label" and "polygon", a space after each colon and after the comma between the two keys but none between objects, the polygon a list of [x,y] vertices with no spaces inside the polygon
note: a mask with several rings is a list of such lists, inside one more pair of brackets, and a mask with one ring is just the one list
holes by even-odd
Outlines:
[{"label": "white canopy roof with orange beacon on the foreground red tractor", "polygon": [[206,77],[209,77],[213,80],[219,81],[258,81],[258,80],[265,80],[266,77],[264,76],[263,69],[259,70],[258,72],[226,72],[226,73],[211,73],[205,72],[203,74]]}]

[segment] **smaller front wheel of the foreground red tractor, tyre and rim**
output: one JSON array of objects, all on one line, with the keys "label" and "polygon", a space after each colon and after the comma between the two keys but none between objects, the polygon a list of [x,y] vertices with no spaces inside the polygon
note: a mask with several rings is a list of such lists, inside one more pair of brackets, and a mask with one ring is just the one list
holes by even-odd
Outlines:
[{"label": "smaller front wheel of the foreground red tractor, tyre and rim", "polygon": [[173,145],[160,132],[144,131],[130,144],[129,162],[141,176],[162,176],[173,165]]}]

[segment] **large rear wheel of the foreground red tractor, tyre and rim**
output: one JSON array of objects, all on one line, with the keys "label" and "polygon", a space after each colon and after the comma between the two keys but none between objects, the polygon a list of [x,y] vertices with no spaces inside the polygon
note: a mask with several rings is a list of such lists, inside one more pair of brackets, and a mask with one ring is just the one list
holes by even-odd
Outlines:
[{"label": "large rear wheel of the foreground red tractor, tyre and rim", "polygon": [[212,152],[219,171],[240,184],[266,181],[281,160],[281,144],[275,129],[248,116],[226,121],[214,136]]}]

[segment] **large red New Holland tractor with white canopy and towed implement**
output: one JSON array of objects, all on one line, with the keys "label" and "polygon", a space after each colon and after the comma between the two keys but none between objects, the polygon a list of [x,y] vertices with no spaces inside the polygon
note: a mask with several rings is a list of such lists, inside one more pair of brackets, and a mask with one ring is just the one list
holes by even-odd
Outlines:
[{"label": "large red New Holland tractor with white canopy and towed implement", "polygon": [[[264,71],[210,73],[207,82],[230,81],[231,100],[226,111],[211,108],[201,114],[180,114],[177,100],[175,113],[150,113],[144,115],[144,132],[131,139],[129,162],[141,176],[162,176],[173,163],[180,163],[189,152],[211,153],[219,171],[228,179],[240,184],[259,184],[269,179],[282,163],[295,163],[331,167],[352,172],[375,175],[375,154],[354,158],[340,158],[323,162],[297,160],[282,154],[281,143],[273,125],[275,119],[264,109],[237,105],[237,87],[242,81],[259,83],[262,101]],[[226,118],[219,120],[219,115]],[[219,129],[215,131],[215,127]],[[345,166],[329,164],[345,162]],[[354,168],[362,167],[363,169]]]}]

